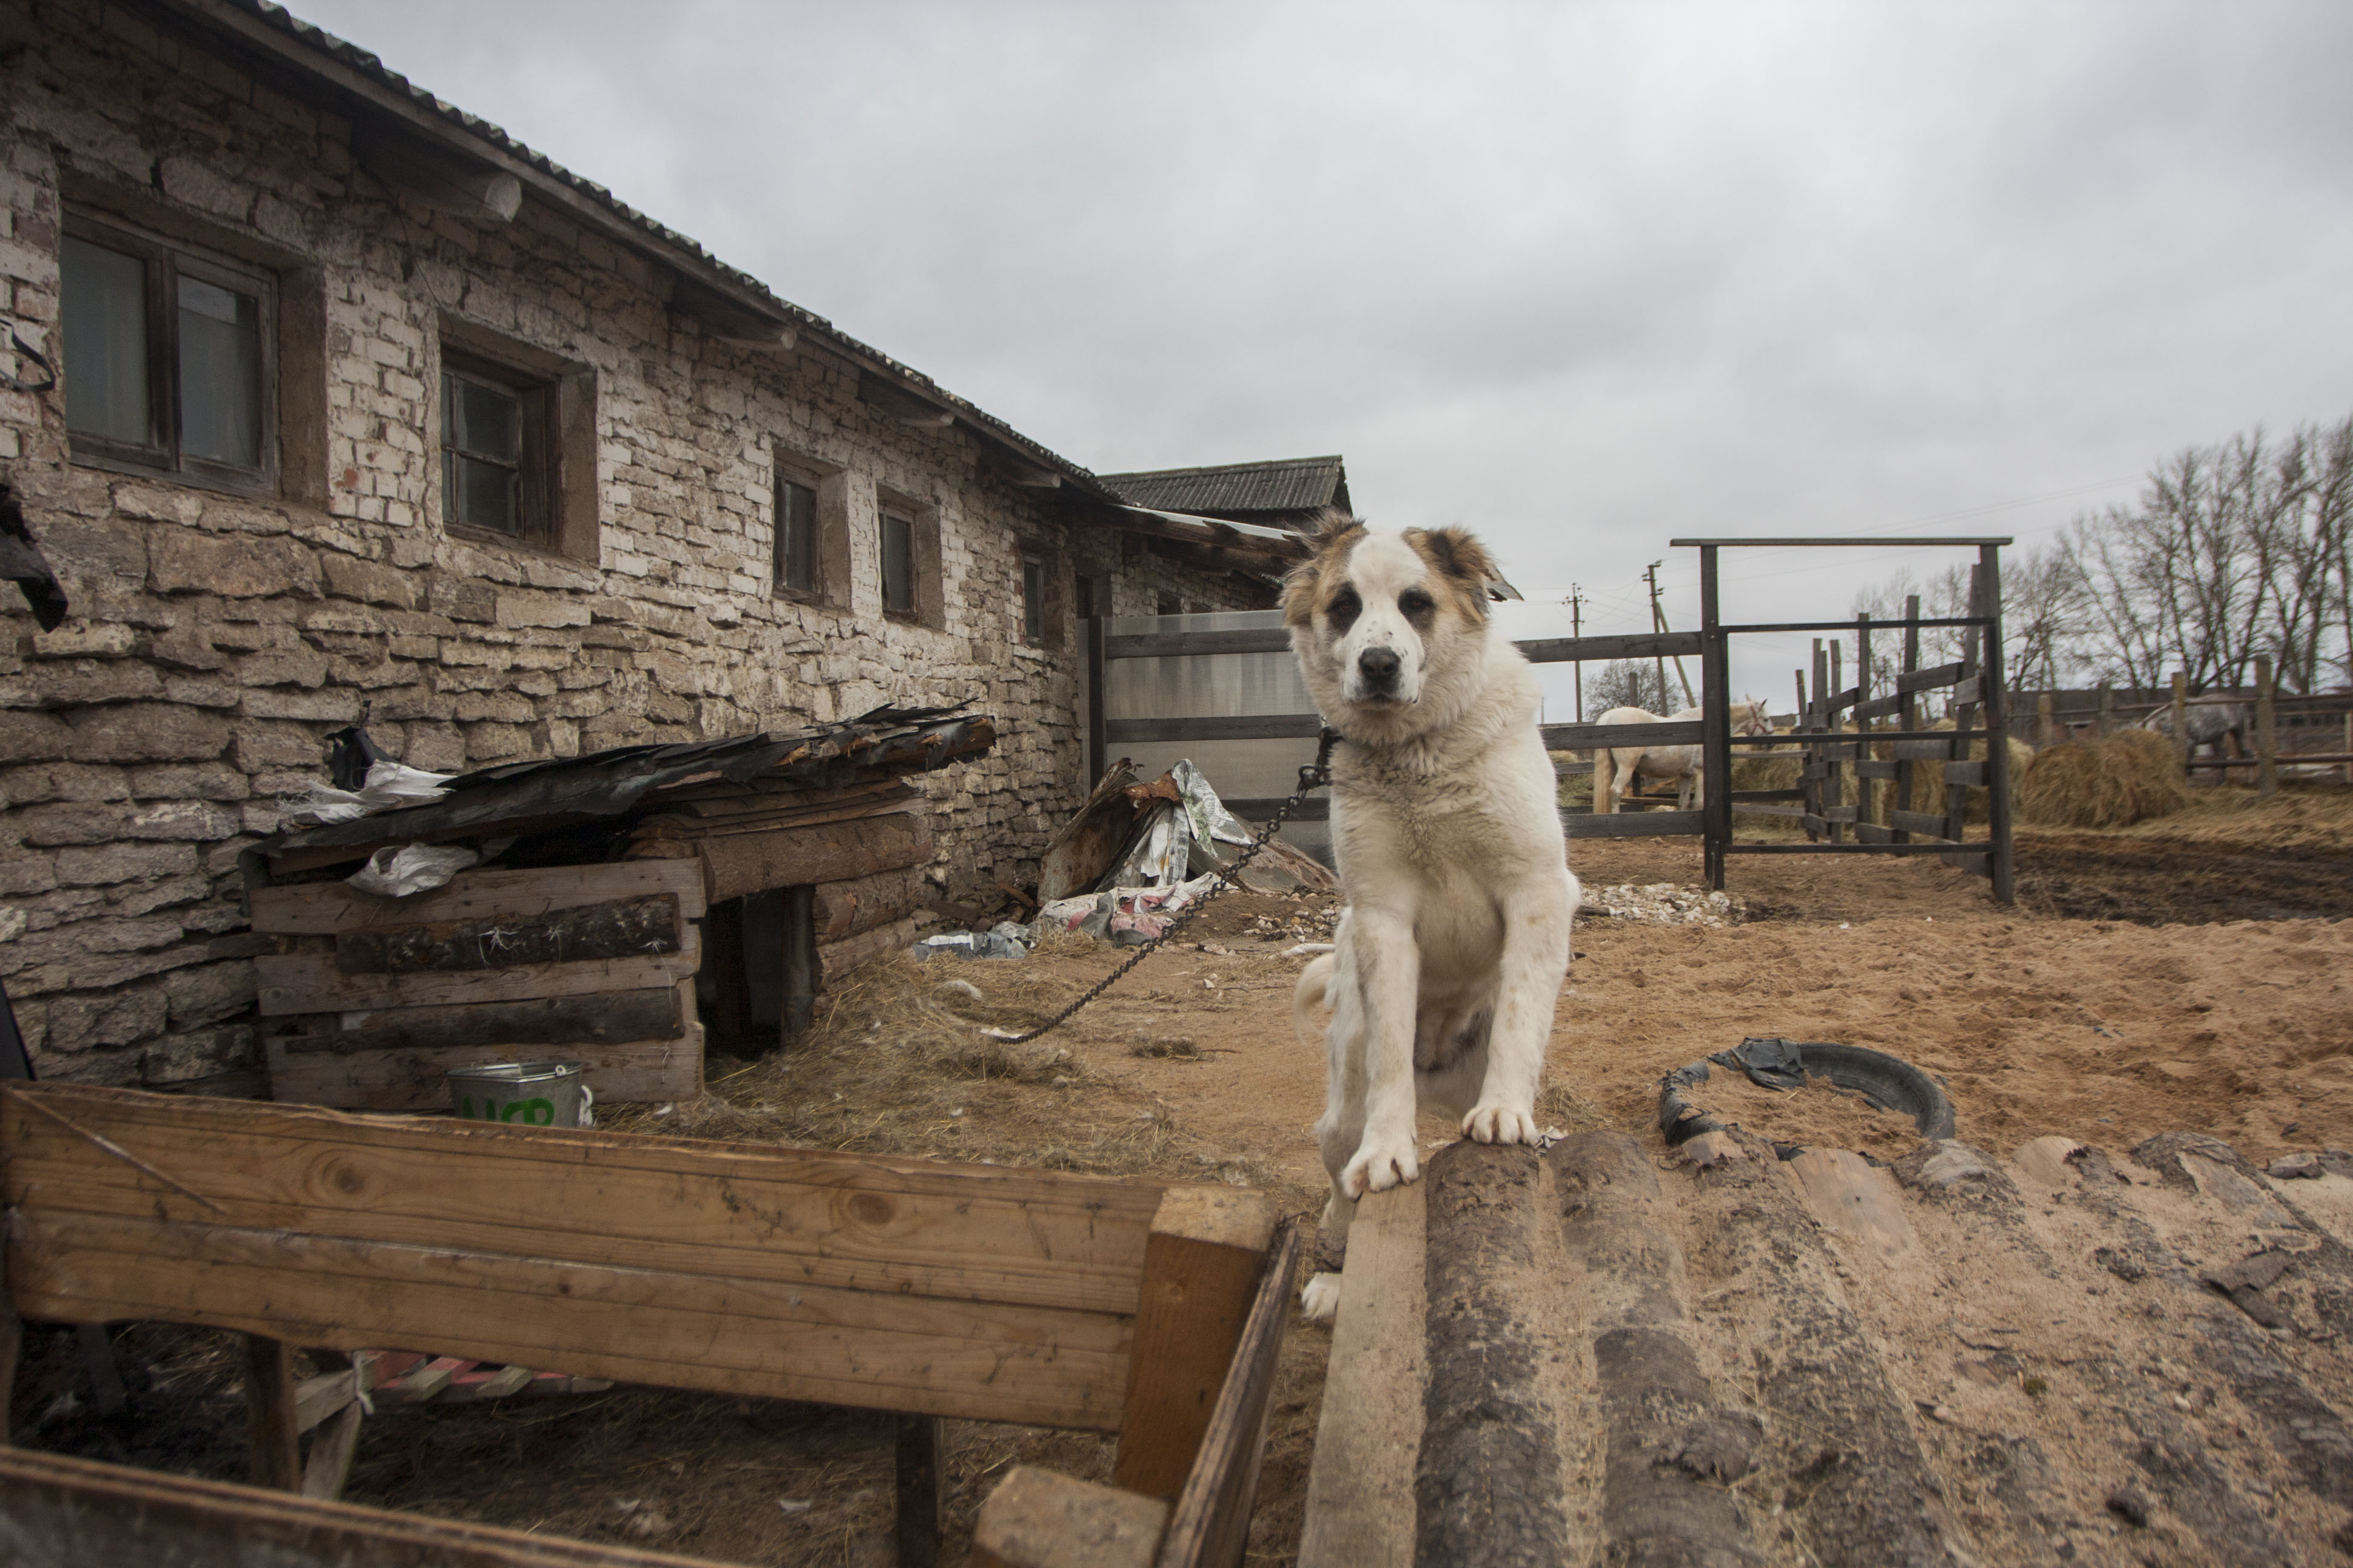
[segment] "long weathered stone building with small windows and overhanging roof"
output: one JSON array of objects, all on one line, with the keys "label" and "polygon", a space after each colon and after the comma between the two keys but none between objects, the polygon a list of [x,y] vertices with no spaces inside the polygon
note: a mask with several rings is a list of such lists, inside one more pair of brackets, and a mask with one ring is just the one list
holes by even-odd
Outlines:
[{"label": "long weathered stone building with small windows and overhanging roof", "polygon": [[1280,567],[252,0],[0,0],[0,289],[61,371],[0,390],[73,607],[0,639],[45,1077],[249,1056],[238,851],[336,726],[456,771],[972,701],[932,875],[986,886],[1078,797],[1078,618]]}]

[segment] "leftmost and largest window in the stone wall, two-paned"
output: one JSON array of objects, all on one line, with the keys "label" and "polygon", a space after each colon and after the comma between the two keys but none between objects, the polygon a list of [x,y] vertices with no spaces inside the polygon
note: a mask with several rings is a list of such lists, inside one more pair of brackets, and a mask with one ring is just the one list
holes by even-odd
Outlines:
[{"label": "leftmost and largest window in the stone wall, two-paned", "polygon": [[278,280],[68,214],[59,249],[73,458],[278,487]]}]

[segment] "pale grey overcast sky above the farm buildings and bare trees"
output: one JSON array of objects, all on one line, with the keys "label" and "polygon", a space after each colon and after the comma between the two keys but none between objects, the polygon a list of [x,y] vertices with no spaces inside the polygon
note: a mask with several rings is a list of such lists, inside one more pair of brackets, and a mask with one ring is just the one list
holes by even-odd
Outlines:
[{"label": "pale grey overcast sky above the farm buildings and bare trees", "polygon": [[[1588,630],[2353,411],[2334,0],[294,9],[1087,468],[1341,451]],[[1727,611],[1951,559],[1838,557]]]}]

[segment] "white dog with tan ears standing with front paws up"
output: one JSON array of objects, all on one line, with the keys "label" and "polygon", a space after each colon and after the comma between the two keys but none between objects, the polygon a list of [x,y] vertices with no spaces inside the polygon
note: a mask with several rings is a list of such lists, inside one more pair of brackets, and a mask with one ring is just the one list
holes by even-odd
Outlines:
[{"label": "white dog with tan ears standing with front paws up", "polygon": [[[1487,552],[1461,529],[1369,531],[1327,515],[1282,597],[1332,752],[1332,849],[1346,910],[1294,992],[1306,1034],[1332,1006],[1325,1114],[1332,1204],[1421,1175],[1414,1114],[1480,1143],[1537,1140],[1537,1081],[1569,966],[1577,877],[1560,832],[1537,679],[1487,616]],[[1308,1281],[1332,1316],[1339,1276]]]}]

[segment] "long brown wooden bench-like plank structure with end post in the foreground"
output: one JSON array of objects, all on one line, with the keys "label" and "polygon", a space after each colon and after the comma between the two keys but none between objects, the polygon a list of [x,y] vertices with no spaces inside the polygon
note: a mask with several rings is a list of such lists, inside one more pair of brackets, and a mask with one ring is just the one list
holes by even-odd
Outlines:
[{"label": "long brown wooden bench-like plank structure with end post in the foreground", "polygon": [[1113,1432],[1148,1561],[1240,1561],[1299,1251],[1257,1192],[64,1084],[0,1091],[0,1150],[14,1316],[249,1335],[278,1488],[287,1347],[400,1345],[896,1410],[904,1563],[941,1418]]}]

